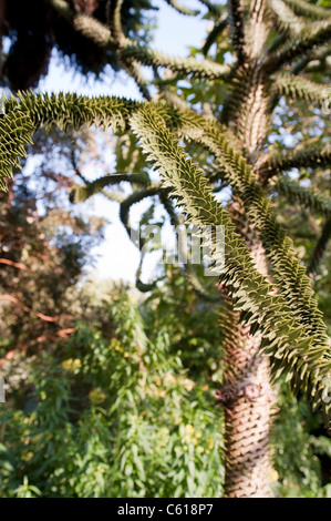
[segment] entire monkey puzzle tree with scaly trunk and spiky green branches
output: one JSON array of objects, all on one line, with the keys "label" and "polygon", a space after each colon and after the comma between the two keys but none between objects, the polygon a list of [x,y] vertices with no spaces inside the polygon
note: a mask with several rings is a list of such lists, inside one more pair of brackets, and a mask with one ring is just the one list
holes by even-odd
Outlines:
[{"label": "entire monkey puzzle tree with scaly trunk and spiky green branches", "polygon": [[[167,3],[192,14],[177,2]],[[330,428],[327,327],[313,296],[312,277],[279,224],[270,197],[286,194],[289,202],[294,200],[323,215],[325,225],[311,264],[316,266],[330,237],[331,200],[285,173],[330,165],[328,133],[324,129],[325,140],[318,146],[304,146],[303,140],[303,146],[278,153],[269,140],[282,100],[301,100],[308,103],[303,110],[322,108],[319,116],[327,125],[330,10],[304,0],[200,3],[215,22],[204,49],[208,52],[216,43],[214,59],[172,58],[128,39],[121,24],[121,0],[107,2],[107,25],[85,16],[84,23],[95,40],[115,52],[146,101],[29,92],[11,96],[0,121],[0,181],[6,188],[4,177],[19,165],[24,145],[42,125],[58,125],[63,131],[92,124],[112,126],[121,135],[122,150],[128,149],[128,155],[137,150],[139,160],[136,165],[124,162],[121,176],[110,175],[79,187],[77,198],[108,184],[132,181],[138,190],[121,203],[127,229],[130,206],[152,195],[159,196],[173,222],[178,218],[175,203],[183,208],[186,223],[214,231],[225,226],[225,265],[218,278],[225,494],[263,497],[269,493],[269,430],[276,401],[271,376],[286,372],[291,387],[304,391],[312,405],[322,409]],[[61,6],[65,9],[69,2]],[[230,53],[227,61],[231,64],[225,63],[226,53]],[[159,89],[155,101],[151,101],[139,65],[154,71]],[[172,74],[162,78],[161,68]],[[189,106],[172,86],[183,79],[188,84],[206,82],[206,95],[200,90],[196,96],[203,110],[199,103]],[[148,177],[151,167],[159,174],[158,183]],[[230,188],[228,204],[216,197],[220,187]],[[213,256],[216,265],[223,260],[215,247]]]}]

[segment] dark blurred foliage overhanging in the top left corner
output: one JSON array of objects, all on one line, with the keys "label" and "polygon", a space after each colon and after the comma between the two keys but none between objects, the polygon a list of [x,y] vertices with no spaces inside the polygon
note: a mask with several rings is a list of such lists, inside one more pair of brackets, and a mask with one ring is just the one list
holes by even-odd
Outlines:
[{"label": "dark blurred foliage overhanging in the top left corner", "polygon": [[[2,1],[0,34],[7,41],[0,44],[0,57],[4,55],[1,83],[14,91],[35,88],[48,74],[53,49],[68,68],[85,75],[99,78],[105,70],[107,73],[118,71],[115,53],[100,44],[93,32],[82,33],[74,22],[75,16],[93,16],[106,25],[106,3],[100,0]],[[148,43],[155,11],[157,8],[149,0],[124,0],[125,35]]]}]

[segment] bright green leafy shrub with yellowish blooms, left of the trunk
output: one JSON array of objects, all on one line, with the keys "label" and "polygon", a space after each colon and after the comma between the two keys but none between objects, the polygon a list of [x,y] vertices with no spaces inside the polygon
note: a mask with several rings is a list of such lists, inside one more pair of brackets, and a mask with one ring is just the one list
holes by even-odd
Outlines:
[{"label": "bright green leafy shrub with yellowish blooms, left of the trunk", "polygon": [[189,378],[167,334],[147,339],[123,288],[103,305],[108,337],[82,323],[61,349],[24,360],[23,409],[13,395],[1,413],[1,496],[220,496],[208,384]]}]

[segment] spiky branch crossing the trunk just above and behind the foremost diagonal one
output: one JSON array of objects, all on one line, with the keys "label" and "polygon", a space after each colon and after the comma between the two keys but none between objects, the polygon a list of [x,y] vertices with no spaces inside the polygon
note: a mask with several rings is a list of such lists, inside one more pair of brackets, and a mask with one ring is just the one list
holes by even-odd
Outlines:
[{"label": "spiky branch crossing the trunk just above and behind the foremost diagonal one", "polygon": [[182,116],[178,126],[182,135],[188,135],[205,144],[215,154],[224,178],[244,202],[251,222],[260,232],[267,257],[273,267],[272,274],[279,293],[283,294],[293,311],[300,316],[300,320],[307,324],[310,333],[318,335],[319,341],[325,345],[328,341],[325,326],[317,308],[309,277],[299,264],[292,242],[277,222],[270,201],[261,186],[256,183],[251,166],[234,151],[227,136],[221,134],[215,124],[187,112]]}]

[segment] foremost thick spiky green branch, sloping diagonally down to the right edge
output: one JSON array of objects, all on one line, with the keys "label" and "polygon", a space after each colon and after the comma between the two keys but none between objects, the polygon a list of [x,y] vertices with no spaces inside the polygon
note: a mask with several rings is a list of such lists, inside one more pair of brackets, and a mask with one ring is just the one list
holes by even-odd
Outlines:
[{"label": "foremost thick spiky green branch, sloping diagonally down to the right edge", "polygon": [[161,172],[163,186],[172,190],[189,222],[199,226],[225,225],[226,264],[220,283],[227,286],[235,307],[249,311],[249,321],[261,331],[262,349],[278,372],[288,371],[292,386],[304,388],[314,403],[330,415],[330,407],[321,399],[322,380],[331,368],[329,346],[320,343],[323,331],[312,334],[310,326],[296,316],[288,299],[279,293],[275,295],[272,286],[257,272],[229,216],[213,197],[206,178],[180,150],[159,113],[152,106],[141,109],[132,116],[131,125],[148,160]]}]

